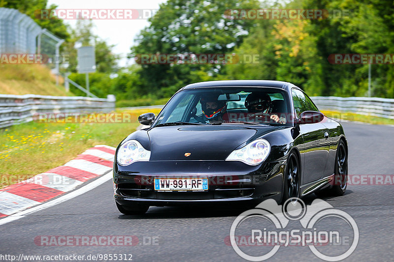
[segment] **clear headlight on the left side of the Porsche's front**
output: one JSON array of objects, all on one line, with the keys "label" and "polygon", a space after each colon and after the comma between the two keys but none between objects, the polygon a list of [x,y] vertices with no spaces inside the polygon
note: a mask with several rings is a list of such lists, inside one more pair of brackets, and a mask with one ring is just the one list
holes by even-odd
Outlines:
[{"label": "clear headlight on the left side of the Porsche's front", "polygon": [[149,161],[151,151],[146,150],[138,141],[130,140],[120,146],[116,160],[119,165],[127,166],[137,161]]}]

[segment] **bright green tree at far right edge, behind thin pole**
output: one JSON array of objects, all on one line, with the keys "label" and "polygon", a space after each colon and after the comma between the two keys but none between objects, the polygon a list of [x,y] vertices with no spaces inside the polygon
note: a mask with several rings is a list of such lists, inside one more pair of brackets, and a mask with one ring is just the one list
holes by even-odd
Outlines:
[{"label": "bright green tree at far right edge, behind thin pole", "polygon": [[[335,0],[331,8],[352,10],[349,19],[338,20],[342,35],[349,41],[351,53],[393,54],[394,53],[394,2],[391,0]],[[351,66],[355,80],[354,95],[367,94],[368,65]],[[394,98],[394,68],[392,65],[371,65],[372,95]],[[348,80],[346,80],[348,82]],[[349,90],[341,88],[345,95]]]}]

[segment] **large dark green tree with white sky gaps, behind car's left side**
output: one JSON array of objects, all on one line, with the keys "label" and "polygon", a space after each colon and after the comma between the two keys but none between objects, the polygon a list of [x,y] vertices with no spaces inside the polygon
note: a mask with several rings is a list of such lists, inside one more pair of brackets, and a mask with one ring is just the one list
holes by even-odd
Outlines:
[{"label": "large dark green tree with white sky gaps, behind car's left side", "polygon": [[[239,45],[256,22],[226,19],[228,9],[259,8],[257,0],[168,0],[149,21],[131,48],[138,54],[227,54]],[[217,76],[222,65],[145,64],[139,75],[149,92],[167,96],[198,76]],[[160,92],[159,92],[160,90]]]}]

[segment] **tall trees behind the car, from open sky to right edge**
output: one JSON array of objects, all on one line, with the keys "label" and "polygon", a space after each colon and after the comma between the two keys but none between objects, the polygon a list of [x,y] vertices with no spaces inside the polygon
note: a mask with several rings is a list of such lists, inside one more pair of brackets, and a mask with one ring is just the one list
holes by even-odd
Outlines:
[{"label": "tall trees behind the car, from open sky to right edge", "polygon": [[[216,67],[142,65],[141,81],[150,83],[154,88],[149,91],[158,95],[196,81],[270,79],[293,82],[312,95],[366,96],[368,65],[330,64],[328,56],[394,53],[392,0],[260,3],[264,9],[326,9],[337,14],[319,20],[231,20],[224,15],[225,9],[253,6],[255,1],[169,0],[141,32],[132,55],[234,52],[240,57],[258,55],[258,62]],[[371,70],[372,95],[394,97],[394,65],[373,64]]]}]

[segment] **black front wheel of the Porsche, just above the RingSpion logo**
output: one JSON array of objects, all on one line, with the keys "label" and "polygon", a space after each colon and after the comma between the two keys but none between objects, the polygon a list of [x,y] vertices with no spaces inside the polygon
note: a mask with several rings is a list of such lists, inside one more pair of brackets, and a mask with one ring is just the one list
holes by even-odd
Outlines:
[{"label": "black front wheel of the Porsche, just above the RingSpion logo", "polygon": [[284,204],[286,200],[290,198],[299,198],[300,181],[299,161],[296,154],[292,152],[289,155],[286,165],[282,204]]}]

